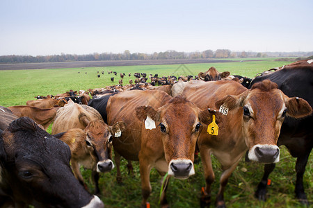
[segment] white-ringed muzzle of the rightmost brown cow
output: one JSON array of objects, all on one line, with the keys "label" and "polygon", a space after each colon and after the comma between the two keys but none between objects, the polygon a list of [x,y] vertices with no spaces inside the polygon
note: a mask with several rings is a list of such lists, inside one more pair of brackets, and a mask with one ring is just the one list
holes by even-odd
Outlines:
[{"label": "white-ringed muzzle of the rightmost brown cow", "polygon": [[276,145],[257,144],[248,153],[250,160],[262,163],[275,163],[280,161],[280,148]]}]

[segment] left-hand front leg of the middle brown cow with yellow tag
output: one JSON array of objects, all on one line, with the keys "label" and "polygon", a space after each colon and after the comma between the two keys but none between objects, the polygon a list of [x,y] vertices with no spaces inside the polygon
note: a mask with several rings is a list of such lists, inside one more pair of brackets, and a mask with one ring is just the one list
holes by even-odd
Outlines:
[{"label": "left-hand front leg of the middle brown cow with yellow tag", "polygon": [[150,184],[150,171],[152,166],[145,159],[141,159],[141,157],[139,157],[139,164],[141,172],[141,193],[143,195],[141,207],[146,207],[147,198],[149,198],[152,191],[152,187]]}]

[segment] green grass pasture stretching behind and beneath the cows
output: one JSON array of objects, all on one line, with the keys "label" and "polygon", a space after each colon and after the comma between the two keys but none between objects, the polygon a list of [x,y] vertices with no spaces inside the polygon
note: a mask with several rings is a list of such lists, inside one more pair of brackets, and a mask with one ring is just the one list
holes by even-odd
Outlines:
[{"label": "green grass pasture stretching behind and beneath the cows", "polygon": [[[125,73],[124,83],[128,84],[128,73],[134,80],[133,73],[158,73],[159,76],[168,75],[198,75],[200,71],[207,71],[209,67],[216,67],[218,71],[230,71],[231,74],[254,77],[258,72],[281,67],[290,62],[275,62],[273,60],[260,60],[251,62],[224,62],[214,64],[172,64],[172,65],[144,65],[127,67],[88,67],[70,69],[28,69],[0,71],[0,105],[26,105],[26,101],[34,100],[34,96],[59,94],[70,89],[93,89],[107,85],[117,85],[120,73]],[[100,78],[97,78],[99,71]],[[101,71],[104,71],[102,75]],[[116,71],[118,76],[108,74],[107,71]],[[114,83],[110,78],[115,77]],[[51,132],[51,126],[48,129]],[[262,177],[263,165],[256,162],[246,163],[241,160],[225,190],[227,207],[305,207],[295,198],[294,184],[296,183],[296,159],[289,155],[287,148],[280,147],[280,162],[270,175],[271,186],[268,187],[268,200],[260,202],[254,197],[257,184]],[[216,182],[212,186],[212,205],[218,192],[218,180],[221,168],[215,158],[212,159]],[[100,198],[106,207],[140,207],[141,180],[138,162],[133,162],[134,176],[127,174],[127,161],[122,159],[122,184],[116,182],[116,168],[110,173],[100,174],[99,185],[102,190]],[[88,188],[93,191],[90,171],[84,170],[83,177]],[[307,197],[313,204],[313,156],[310,155],[304,175],[304,187]],[[155,169],[150,175],[152,194],[149,201],[152,207],[159,207],[159,194],[161,177]],[[168,202],[170,207],[200,207],[200,190],[204,187],[203,168],[201,162],[195,164],[195,175],[187,180],[171,179],[168,184]]]}]

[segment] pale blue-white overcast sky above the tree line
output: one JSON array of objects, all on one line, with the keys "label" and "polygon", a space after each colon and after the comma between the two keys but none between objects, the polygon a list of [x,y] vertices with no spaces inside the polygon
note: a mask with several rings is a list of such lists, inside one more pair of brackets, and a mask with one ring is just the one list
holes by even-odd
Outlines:
[{"label": "pale blue-white overcast sky above the tree line", "polygon": [[0,55],[313,51],[312,0],[0,0]]}]

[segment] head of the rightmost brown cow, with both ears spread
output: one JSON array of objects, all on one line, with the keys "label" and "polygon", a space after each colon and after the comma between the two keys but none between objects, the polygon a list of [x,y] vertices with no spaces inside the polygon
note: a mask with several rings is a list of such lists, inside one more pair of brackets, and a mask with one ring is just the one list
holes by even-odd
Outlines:
[{"label": "head of the rightmost brown cow, with both ears spread", "polygon": [[216,102],[230,112],[241,114],[243,135],[249,148],[248,159],[262,162],[279,162],[277,146],[280,128],[285,116],[300,118],[312,113],[312,108],[302,98],[289,98],[269,80],[256,83],[239,96],[226,96]]}]

